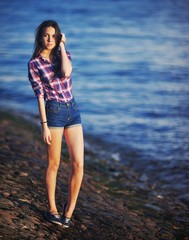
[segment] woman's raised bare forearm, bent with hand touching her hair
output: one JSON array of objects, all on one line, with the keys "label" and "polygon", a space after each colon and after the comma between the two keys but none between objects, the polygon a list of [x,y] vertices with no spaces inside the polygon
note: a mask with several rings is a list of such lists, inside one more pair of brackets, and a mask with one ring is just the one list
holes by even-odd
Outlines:
[{"label": "woman's raised bare forearm, bent with hand touching her hair", "polygon": [[65,34],[62,33],[62,39],[60,41],[60,54],[61,54],[61,72],[64,77],[70,77],[72,73],[72,64],[67,56],[65,49],[66,37]]}]

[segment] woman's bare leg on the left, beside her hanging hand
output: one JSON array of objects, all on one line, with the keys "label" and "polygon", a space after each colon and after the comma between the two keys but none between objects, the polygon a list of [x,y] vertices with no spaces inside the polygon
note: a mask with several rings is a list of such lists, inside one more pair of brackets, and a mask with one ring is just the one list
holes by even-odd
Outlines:
[{"label": "woman's bare leg on the left, beside her hanging hand", "polygon": [[47,145],[48,166],[46,170],[46,188],[49,209],[52,214],[57,213],[55,202],[56,177],[60,164],[63,128],[49,128],[51,132],[51,145]]}]

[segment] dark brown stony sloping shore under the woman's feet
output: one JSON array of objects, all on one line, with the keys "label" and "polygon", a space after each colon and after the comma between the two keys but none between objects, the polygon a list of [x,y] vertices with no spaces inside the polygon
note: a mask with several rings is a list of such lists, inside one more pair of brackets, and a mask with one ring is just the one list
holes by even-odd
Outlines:
[{"label": "dark brown stony sloping shore under the woman's feet", "polygon": [[[85,153],[85,176],[69,230],[48,223],[44,174],[45,146],[37,125],[1,111],[1,239],[184,239],[189,236],[188,205],[141,187],[128,166],[107,165]],[[65,146],[65,144],[64,144]],[[64,148],[65,149],[65,148]],[[121,172],[121,174],[120,174]],[[69,161],[63,150],[57,205],[67,194]]]}]

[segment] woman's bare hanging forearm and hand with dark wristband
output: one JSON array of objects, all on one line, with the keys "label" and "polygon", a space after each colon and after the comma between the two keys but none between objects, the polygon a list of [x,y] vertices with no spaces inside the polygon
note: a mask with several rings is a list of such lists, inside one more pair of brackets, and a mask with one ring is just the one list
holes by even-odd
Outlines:
[{"label": "woman's bare hanging forearm and hand with dark wristband", "polygon": [[46,144],[51,144],[51,132],[47,125],[47,116],[45,111],[45,101],[44,98],[40,97],[38,98],[38,108],[39,108],[39,114],[42,124],[42,130],[43,130],[43,140]]}]

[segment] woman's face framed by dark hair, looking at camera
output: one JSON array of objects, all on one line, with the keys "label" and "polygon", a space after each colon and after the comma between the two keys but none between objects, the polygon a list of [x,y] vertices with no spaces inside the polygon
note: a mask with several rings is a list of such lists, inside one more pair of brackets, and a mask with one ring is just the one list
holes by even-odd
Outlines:
[{"label": "woman's face framed by dark hair, looking at camera", "polygon": [[45,50],[52,50],[56,46],[55,28],[47,27],[42,34],[42,46]]}]

